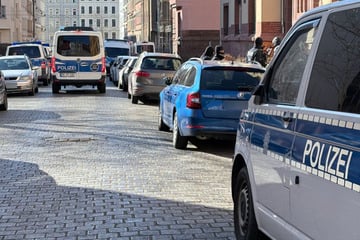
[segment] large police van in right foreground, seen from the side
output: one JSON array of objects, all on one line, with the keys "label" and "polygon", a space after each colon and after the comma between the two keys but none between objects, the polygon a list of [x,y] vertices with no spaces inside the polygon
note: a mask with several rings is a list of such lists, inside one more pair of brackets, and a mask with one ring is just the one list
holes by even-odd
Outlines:
[{"label": "large police van in right foreground, seen from the side", "polygon": [[306,12],[241,113],[237,239],[360,239],[360,2]]}]

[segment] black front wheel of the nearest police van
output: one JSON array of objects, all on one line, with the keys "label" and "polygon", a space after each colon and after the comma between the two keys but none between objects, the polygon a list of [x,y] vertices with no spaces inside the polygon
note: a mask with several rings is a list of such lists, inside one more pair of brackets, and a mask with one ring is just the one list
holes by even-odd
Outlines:
[{"label": "black front wheel of the nearest police van", "polygon": [[255,219],[249,174],[245,167],[240,170],[236,181],[234,225],[237,239],[258,239],[259,230]]}]

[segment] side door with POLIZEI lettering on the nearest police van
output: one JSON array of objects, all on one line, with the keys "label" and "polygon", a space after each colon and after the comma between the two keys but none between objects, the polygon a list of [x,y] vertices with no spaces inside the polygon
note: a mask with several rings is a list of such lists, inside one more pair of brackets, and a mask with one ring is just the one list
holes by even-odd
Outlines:
[{"label": "side door with POLIZEI lettering on the nearest police van", "polygon": [[323,17],[298,115],[291,222],[311,239],[360,239],[359,12]]}]

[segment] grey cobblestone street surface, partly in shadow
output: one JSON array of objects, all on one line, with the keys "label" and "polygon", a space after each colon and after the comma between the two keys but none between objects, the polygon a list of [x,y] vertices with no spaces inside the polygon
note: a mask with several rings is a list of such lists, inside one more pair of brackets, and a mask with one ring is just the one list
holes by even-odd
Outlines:
[{"label": "grey cobblestone street surface, partly in shadow", "polygon": [[0,112],[0,239],[235,239],[232,142],[177,150],[157,103],[70,89]]}]

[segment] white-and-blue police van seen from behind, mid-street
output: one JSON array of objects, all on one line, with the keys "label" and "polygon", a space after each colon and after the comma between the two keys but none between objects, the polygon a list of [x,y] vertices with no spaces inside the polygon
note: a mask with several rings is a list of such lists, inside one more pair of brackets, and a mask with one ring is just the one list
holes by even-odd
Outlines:
[{"label": "white-and-blue police van seen from behind, mid-street", "polygon": [[81,28],[54,34],[51,58],[52,92],[68,85],[97,87],[106,92],[105,51],[101,32]]}]

